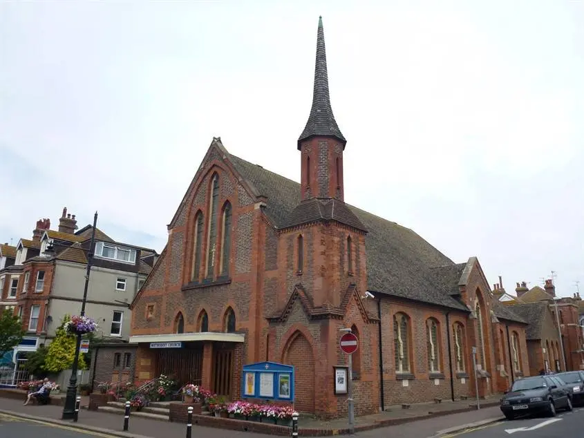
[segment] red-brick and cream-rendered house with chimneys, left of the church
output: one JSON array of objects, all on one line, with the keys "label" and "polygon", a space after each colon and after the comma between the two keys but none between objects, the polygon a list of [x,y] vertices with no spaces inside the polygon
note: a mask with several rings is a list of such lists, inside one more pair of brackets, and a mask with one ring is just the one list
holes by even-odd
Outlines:
[{"label": "red-brick and cream-rendered house with chimneys, left of the church", "polygon": [[[78,229],[75,215],[64,208],[58,230],[50,229],[50,220],[39,220],[32,240],[20,239],[15,251],[4,245],[14,263],[0,271],[6,283],[2,302],[14,307],[26,330],[26,345],[15,348],[15,362],[50,343],[66,314],[79,314],[92,231],[91,225]],[[95,229],[85,312],[99,324],[98,335],[127,341],[129,304],[157,258],[153,249],[117,242]]]}]

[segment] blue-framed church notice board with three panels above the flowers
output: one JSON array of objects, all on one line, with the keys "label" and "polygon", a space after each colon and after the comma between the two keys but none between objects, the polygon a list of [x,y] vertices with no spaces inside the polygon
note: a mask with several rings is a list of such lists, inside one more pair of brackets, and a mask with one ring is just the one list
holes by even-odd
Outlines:
[{"label": "blue-framed church notice board with three panels above the flowers", "polygon": [[294,367],[276,362],[243,365],[242,399],[294,401]]}]

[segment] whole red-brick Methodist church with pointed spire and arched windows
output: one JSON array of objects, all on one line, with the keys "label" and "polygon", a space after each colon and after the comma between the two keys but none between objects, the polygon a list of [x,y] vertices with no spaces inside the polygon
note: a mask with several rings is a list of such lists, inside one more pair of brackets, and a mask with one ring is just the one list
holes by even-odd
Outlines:
[{"label": "whole red-brick Methodist church with pointed spire and arched windows", "polygon": [[[211,142],[131,305],[135,379],[172,373],[238,399],[243,365],[285,363],[296,409],[336,417],[347,406],[333,368],[346,364],[347,327],[359,338],[357,415],[472,397],[473,346],[481,396],[527,375],[527,321],[493,300],[477,258],[453,263],[411,229],[345,202],[351,149],[330,105],[322,21],[313,93],[297,141],[300,183]],[[175,341],[182,347],[151,348]]]}]

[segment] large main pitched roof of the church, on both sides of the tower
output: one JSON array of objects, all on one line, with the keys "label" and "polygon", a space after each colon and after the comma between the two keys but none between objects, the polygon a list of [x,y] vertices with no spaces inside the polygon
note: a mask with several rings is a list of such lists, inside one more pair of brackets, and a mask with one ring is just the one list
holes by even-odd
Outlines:
[{"label": "large main pitched roof of the church, on both sides of the tower", "polygon": [[[229,154],[229,153],[228,153]],[[235,170],[267,198],[265,214],[282,228],[299,203],[300,184],[229,154]],[[368,230],[366,235],[368,289],[434,305],[468,311],[435,285],[431,267],[454,265],[414,231],[346,204]]]}]

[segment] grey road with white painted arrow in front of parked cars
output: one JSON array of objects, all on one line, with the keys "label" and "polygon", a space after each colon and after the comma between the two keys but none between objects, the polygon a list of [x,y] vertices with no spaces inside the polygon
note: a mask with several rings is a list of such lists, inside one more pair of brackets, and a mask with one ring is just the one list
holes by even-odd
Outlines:
[{"label": "grey road with white painted arrow in front of parked cars", "polygon": [[440,438],[551,438],[582,437],[584,430],[584,408],[572,412],[561,412],[553,418],[527,417],[501,421],[469,430],[439,435]]}]

